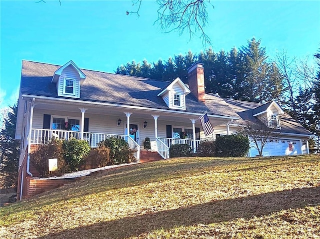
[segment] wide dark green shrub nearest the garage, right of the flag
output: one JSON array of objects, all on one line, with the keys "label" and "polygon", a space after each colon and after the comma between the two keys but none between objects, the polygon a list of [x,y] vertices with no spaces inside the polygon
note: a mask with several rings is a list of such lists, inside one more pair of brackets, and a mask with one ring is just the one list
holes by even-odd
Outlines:
[{"label": "wide dark green shrub nearest the garage, right of the flag", "polygon": [[249,151],[249,140],[240,134],[221,135],[215,140],[216,157],[242,157]]}]

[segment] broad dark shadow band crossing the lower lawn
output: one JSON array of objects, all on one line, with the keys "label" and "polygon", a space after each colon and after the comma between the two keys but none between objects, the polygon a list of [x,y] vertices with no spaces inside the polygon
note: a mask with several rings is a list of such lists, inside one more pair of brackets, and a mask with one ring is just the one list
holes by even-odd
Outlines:
[{"label": "broad dark shadow band crossing the lower lawn", "polygon": [[210,224],[236,218],[269,215],[286,209],[303,208],[320,204],[320,187],[293,189],[222,201],[212,201],[175,210],[150,212],[135,217],[102,222],[91,226],[65,230],[38,239],[62,238],[117,238],[137,237],[154,230]]}]

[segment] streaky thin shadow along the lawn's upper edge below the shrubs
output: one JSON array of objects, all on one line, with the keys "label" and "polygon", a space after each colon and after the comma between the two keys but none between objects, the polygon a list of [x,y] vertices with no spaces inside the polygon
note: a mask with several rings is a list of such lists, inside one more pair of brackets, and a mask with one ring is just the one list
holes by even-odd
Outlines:
[{"label": "streaky thin shadow along the lawn's upper edge below the shrubs", "polygon": [[[266,160],[266,159],[263,159]],[[320,159],[317,159],[320,160]],[[255,167],[247,167],[238,169],[252,159],[216,159],[216,160],[194,160],[190,162],[180,162],[179,160],[171,159],[170,161],[162,161],[164,164],[159,165],[160,162],[152,162],[146,164],[132,165],[130,168],[117,168],[114,171],[104,171],[100,175],[90,176],[85,180],[75,182],[69,185],[64,185],[62,188],[54,189],[55,191],[48,191],[34,198],[27,203],[27,208],[32,210],[42,206],[51,205],[61,201],[68,201],[74,198],[84,197],[92,193],[100,193],[107,190],[117,190],[124,187],[132,187],[135,185],[147,184],[150,182],[160,182],[167,179],[182,178],[186,175],[202,174],[205,170],[214,170],[212,167],[224,167],[233,165],[231,170],[216,170],[217,173],[228,173],[237,171],[259,170],[272,166],[282,166],[305,162],[305,159],[295,159],[292,161],[279,160],[272,161],[271,164],[263,164]],[[126,182],[126,183],[124,183]],[[76,190],[74,190],[76,188]],[[72,192],[71,192],[72,191]],[[45,198],[46,195],[52,199],[45,200],[43,203],[38,201],[38,198]],[[63,196],[61,196],[63,195]],[[20,209],[17,209],[20,210]],[[12,213],[15,212],[14,209]]]}]

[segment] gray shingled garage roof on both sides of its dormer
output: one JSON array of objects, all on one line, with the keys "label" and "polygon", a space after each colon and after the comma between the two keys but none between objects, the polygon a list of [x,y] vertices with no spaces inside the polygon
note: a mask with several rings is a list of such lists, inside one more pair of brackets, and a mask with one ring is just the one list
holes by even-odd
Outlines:
[{"label": "gray shingled garage roof on both sides of its dormer", "polygon": [[[240,119],[234,121],[234,123],[244,124],[244,120],[256,121],[256,118],[253,117],[254,111],[257,108],[260,108],[258,112],[264,111],[269,106],[269,103],[261,105],[254,102],[246,102],[240,100],[229,100],[225,99],[225,102],[236,112]],[[267,105],[264,110],[261,110]],[[282,133],[293,133],[293,134],[305,134],[311,135],[302,125],[297,123],[291,116],[284,113],[280,115],[281,122],[281,132]]]}]

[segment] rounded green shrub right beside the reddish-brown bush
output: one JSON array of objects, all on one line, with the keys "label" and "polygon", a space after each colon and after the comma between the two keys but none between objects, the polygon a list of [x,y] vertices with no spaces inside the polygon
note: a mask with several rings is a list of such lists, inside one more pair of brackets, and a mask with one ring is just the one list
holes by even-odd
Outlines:
[{"label": "rounded green shrub right beside the reddish-brown bush", "polygon": [[83,158],[86,157],[91,148],[86,140],[71,138],[62,141],[62,155],[65,163],[71,172],[77,171],[80,165],[83,165]]}]

